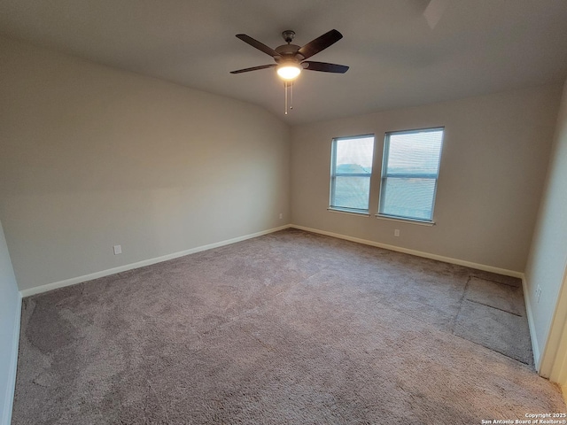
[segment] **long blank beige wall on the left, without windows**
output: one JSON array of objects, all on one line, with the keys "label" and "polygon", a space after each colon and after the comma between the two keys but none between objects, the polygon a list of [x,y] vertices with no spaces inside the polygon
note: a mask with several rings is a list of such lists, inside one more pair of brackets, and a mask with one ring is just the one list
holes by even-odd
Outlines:
[{"label": "long blank beige wall on the left, without windows", "polygon": [[7,39],[0,63],[20,290],[289,222],[290,130],[270,113]]}]

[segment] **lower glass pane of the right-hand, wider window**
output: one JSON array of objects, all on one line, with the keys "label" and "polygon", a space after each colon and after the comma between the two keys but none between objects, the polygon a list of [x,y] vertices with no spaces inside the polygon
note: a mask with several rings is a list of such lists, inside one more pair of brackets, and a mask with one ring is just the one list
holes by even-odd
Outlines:
[{"label": "lower glass pane of the right-hand, wider window", "polygon": [[382,185],[380,213],[419,220],[431,220],[434,179],[390,177]]}]

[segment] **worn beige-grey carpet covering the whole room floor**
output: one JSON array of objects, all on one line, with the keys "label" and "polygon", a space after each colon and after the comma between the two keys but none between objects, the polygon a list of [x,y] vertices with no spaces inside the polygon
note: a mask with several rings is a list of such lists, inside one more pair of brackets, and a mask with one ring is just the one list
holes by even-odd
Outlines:
[{"label": "worn beige-grey carpet covering the whole room floor", "polygon": [[26,298],[12,423],[564,412],[526,332],[515,279],[290,229]]}]

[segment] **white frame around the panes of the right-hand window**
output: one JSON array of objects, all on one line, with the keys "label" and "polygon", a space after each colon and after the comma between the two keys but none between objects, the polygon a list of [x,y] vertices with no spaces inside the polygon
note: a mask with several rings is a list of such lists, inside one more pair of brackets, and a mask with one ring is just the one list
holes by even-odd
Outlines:
[{"label": "white frame around the panes of the right-hand window", "polygon": [[[437,163],[437,174],[387,174],[388,169],[388,158],[390,156],[390,136],[391,135],[411,135],[414,133],[426,133],[426,132],[434,132],[434,131],[441,131],[441,148],[439,150],[439,159]],[[384,220],[395,220],[395,221],[407,221],[416,224],[423,224],[426,226],[433,226],[435,225],[435,200],[437,198],[437,186],[439,182],[439,172],[441,168],[441,156],[443,155],[443,144],[445,143],[445,126],[439,127],[431,127],[431,128],[414,128],[411,130],[396,130],[396,131],[387,131],[384,134],[384,151],[382,157],[382,170],[380,175],[380,193],[378,195],[378,212],[376,217],[378,219]],[[383,198],[385,195],[385,180],[388,178],[419,178],[419,179],[431,179],[434,180],[435,186],[433,188],[433,196],[431,197],[431,218],[421,219],[417,217],[408,217],[408,216],[401,216],[401,215],[392,215],[381,213],[381,209],[383,207]]]}]

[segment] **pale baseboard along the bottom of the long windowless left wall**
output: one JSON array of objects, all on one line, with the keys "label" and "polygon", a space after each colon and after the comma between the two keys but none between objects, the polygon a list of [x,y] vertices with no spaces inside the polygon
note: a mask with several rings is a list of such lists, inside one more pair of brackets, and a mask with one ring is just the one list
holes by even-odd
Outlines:
[{"label": "pale baseboard along the bottom of the long windowless left wall", "polygon": [[268,235],[269,233],[274,233],[285,228],[289,228],[290,225],[280,226],[279,228],[270,228],[268,230],[263,230],[261,232],[252,233],[250,235],[238,236],[232,239],[227,239],[221,242],[209,243],[206,245],[201,245],[196,248],[191,248],[190,250],[173,252],[171,254],[163,255],[161,257],[156,257],[154,259],[144,259],[143,261],[138,261],[136,263],[130,263],[120,267],[113,267],[107,270],[102,270],[100,272],[84,274],[82,276],[77,276],[72,279],[66,279],[65,281],[52,282],[41,286],[35,286],[34,288],[29,288],[27,290],[20,290],[22,297],[30,297],[32,295],[41,294],[49,290],[57,290],[59,288],[65,288],[66,286],[76,285],[77,283],[92,281],[93,279],[98,279],[100,277],[105,277],[110,274],[117,274],[120,272],[126,272],[139,267],[151,266],[152,264],[161,263],[162,261],[167,261],[169,259],[177,259],[185,255],[194,254],[200,251],[211,250],[213,248],[218,248],[220,246],[229,245],[231,243],[237,243],[245,241],[246,239],[252,239],[252,237],[258,237],[263,235]]}]

